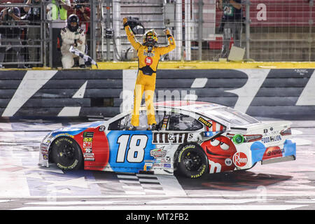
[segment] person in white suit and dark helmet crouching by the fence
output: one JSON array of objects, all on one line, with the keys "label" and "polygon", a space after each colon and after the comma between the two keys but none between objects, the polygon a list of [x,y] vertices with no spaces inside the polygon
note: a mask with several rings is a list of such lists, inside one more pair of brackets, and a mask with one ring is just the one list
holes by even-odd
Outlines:
[{"label": "person in white suit and dark helmet crouching by the fence", "polygon": [[[79,27],[77,15],[69,15],[68,25],[61,30],[60,35],[62,37],[62,66],[64,69],[70,69],[74,65],[73,58],[78,57],[69,51],[71,46],[85,53],[85,32]],[[85,60],[79,57],[78,61],[80,68],[85,68]]]}]

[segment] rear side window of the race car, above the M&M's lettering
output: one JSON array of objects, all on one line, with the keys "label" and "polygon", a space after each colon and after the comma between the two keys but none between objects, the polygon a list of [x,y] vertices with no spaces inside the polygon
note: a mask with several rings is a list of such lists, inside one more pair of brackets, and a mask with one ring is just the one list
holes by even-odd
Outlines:
[{"label": "rear side window of the race car, above the M&M's lettering", "polygon": [[195,118],[181,113],[172,113],[169,117],[167,130],[169,131],[197,131],[202,129],[203,125]]}]

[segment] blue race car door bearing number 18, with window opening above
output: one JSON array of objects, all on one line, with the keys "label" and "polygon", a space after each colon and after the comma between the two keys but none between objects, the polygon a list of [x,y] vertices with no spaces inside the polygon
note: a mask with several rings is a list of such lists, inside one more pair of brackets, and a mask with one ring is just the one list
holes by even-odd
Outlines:
[{"label": "blue race car door bearing number 18, with window opening above", "polygon": [[[159,123],[163,116],[156,114],[155,118]],[[147,130],[146,111],[140,111],[137,130],[128,130],[130,120],[129,114],[109,125],[109,165],[114,172],[138,173],[146,162],[153,160],[150,151],[155,145],[152,144],[152,131]]]}]

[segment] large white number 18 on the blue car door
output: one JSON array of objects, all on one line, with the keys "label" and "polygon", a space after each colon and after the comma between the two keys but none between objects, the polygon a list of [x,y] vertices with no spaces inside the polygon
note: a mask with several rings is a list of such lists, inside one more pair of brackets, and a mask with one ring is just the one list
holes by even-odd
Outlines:
[{"label": "large white number 18 on the blue car door", "polygon": [[[127,149],[128,142],[129,148]],[[127,162],[142,162],[144,160],[144,149],[148,143],[148,137],[142,134],[123,134],[117,139],[119,144],[116,162],[125,162],[127,153]]]}]

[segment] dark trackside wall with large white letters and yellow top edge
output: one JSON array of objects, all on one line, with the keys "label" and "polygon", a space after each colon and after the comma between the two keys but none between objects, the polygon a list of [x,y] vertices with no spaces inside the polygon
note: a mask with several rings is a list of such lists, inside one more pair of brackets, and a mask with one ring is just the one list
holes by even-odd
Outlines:
[{"label": "dark trackside wall with large white letters and yellow top edge", "polygon": [[[196,99],[250,116],[315,119],[315,63],[160,62],[155,100]],[[1,117],[110,118],[132,106],[137,62],[0,70]]]}]

